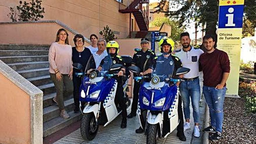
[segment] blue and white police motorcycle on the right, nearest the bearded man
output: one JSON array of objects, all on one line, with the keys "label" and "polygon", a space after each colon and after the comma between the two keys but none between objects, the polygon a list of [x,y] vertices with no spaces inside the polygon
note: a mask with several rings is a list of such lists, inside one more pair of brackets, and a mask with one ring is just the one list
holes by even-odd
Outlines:
[{"label": "blue and white police motorcycle on the right, nearest the bearded man", "polygon": [[[166,138],[179,124],[177,111],[179,87],[176,83],[180,79],[173,79],[172,75],[164,75],[163,71],[168,67],[156,69],[151,76],[140,76],[140,69],[136,66],[130,66],[128,69],[134,73],[134,80],[141,82],[137,115],[141,127],[145,128],[147,144],[156,144],[158,138]],[[180,67],[174,75],[185,74],[189,70]]]}]

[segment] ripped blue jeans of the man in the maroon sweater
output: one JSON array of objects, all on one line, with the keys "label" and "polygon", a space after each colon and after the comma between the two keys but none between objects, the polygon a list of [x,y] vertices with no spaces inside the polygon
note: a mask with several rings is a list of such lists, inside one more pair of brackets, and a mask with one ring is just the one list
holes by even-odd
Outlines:
[{"label": "ripped blue jeans of the man in the maroon sweater", "polygon": [[214,87],[203,86],[203,94],[209,106],[211,125],[217,132],[222,132],[223,124],[223,103],[226,94],[226,87],[215,89]]}]

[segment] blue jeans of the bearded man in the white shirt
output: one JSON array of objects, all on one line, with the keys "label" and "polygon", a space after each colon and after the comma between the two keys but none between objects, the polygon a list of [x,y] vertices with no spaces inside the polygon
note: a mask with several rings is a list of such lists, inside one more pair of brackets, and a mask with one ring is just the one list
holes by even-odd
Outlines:
[{"label": "blue jeans of the bearded man in the white shirt", "polygon": [[193,107],[193,117],[194,122],[199,123],[200,111],[199,111],[199,101],[200,101],[200,85],[199,79],[193,81],[182,81],[179,85],[180,94],[183,101],[183,111],[185,119],[190,119],[190,97]]}]

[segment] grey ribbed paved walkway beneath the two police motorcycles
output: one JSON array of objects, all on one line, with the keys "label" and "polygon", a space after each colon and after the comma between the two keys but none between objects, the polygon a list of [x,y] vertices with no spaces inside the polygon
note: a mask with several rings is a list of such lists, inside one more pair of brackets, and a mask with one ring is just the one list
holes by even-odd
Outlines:
[{"label": "grey ribbed paved walkway beneath the two police motorcycles", "polygon": [[[202,73],[200,73],[200,86],[202,93]],[[186,130],[185,136],[187,140],[182,142],[176,136],[177,131],[174,130],[166,138],[160,138],[159,144],[199,144],[202,143],[202,129],[204,123],[204,114],[205,114],[205,102],[201,99],[200,102],[200,134],[199,138],[193,136],[193,110],[190,104],[190,124],[191,128]],[[136,134],[135,130],[140,127],[138,118],[134,117],[127,119],[127,128],[121,129],[120,123],[122,121],[122,116],[119,115],[115,120],[113,120],[106,127],[99,127],[99,131],[96,137],[92,141],[84,141],[80,134],[80,129],[72,132],[71,134],[61,138],[56,141],[54,144],[146,144],[146,136],[144,134]]]}]

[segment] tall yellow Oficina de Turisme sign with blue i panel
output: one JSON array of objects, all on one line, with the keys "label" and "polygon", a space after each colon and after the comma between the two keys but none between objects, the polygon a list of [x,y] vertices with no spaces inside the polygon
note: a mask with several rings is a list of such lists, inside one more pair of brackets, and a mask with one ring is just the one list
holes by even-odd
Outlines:
[{"label": "tall yellow Oficina de Turisme sign with blue i panel", "polygon": [[227,95],[238,95],[244,0],[220,0],[217,48],[230,60]]}]

